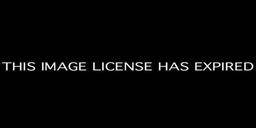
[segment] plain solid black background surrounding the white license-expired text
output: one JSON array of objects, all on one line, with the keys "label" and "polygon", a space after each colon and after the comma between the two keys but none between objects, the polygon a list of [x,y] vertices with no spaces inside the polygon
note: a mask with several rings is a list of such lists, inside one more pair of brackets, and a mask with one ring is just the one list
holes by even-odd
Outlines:
[{"label": "plain solid black background surrounding the white license-expired text", "polygon": [[[153,62],[154,71],[6,72],[1,66],[6,121],[159,126],[251,120],[255,69],[193,71],[194,62],[255,64],[249,4],[23,4],[2,9],[1,62]],[[158,62],[188,62],[190,70],[159,72]]]}]

